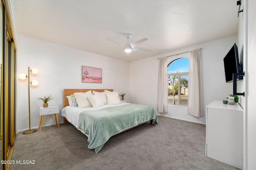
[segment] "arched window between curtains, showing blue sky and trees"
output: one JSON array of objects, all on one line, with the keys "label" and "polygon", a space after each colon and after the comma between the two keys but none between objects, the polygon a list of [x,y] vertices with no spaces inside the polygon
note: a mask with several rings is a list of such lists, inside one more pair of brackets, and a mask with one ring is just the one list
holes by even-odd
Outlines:
[{"label": "arched window between curtains, showing blue sky and trees", "polygon": [[168,64],[168,104],[188,105],[189,59],[179,58]]}]

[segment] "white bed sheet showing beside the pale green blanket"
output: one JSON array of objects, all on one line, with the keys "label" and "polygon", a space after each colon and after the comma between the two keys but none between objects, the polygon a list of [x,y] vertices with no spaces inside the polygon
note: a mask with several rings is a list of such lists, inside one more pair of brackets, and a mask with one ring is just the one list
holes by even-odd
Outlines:
[{"label": "white bed sheet showing beside the pale green blanket", "polygon": [[79,114],[82,111],[86,111],[86,110],[98,110],[98,109],[103,109],[103,108],[107,108],[107,107],[114,107],[114,106],[122,106],[122,105],[127,105],[130,103],[120,103],[120,104],[105,104],[103,106],[100,107],[84,107],[84,108],[78,108],[78,107],[74,107],[74,106],[66,106],[61,110],[61,115],[63,117],[66,117],[66,119],[68,120],[68,122],[70,122],[72,125],[74,125],[74,127],[77,128],[78,125],[78,117]]}]

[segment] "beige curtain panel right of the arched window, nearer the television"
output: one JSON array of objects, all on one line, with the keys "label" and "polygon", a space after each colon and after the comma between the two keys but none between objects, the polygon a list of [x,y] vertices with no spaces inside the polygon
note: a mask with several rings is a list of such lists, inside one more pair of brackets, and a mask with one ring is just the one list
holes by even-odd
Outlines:
[{"label": "beige curtain panel right of the arched window, nearer the television", "polygon": [[201,49],[190,51],[188,81],[188,114],[195,117],[204,116]]}]

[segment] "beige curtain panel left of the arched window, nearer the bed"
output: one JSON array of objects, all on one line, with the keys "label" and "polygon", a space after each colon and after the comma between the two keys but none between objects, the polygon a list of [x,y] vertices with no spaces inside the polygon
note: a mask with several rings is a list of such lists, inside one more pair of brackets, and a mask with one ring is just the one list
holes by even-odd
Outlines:
[{"label": "beige curtain panel left of the arched window, nearer the bed", "polygon": [[157,111],[168,113],[167,63],[166,57],[159,59]]}]

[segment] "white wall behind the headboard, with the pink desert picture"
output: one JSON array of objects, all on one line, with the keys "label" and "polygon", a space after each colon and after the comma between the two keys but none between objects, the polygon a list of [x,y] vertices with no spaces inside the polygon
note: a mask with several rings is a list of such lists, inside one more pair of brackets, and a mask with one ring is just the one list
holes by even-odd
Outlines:
[{"label": "white wall behind the headboard, with the pink desert picture", "polygon": [[[129,63],[104,57],[78,49],[18,35],[17,75],[28,74],[30,68],[38,68],[39,73],[30,74],[30,80],[38,80],[38,86],[30,86],[31,128],[38,127],[40,122],[39,108],[42,101],[37,98],[54,97],[49,106],[63,108],[63,90],[77,89],[114,89],[126,93],[129,101]],[[82,83],[82,66],[102,68],[102,84]],[[59,122],[63,122],[58,114]],[[17,79],[17,130],[28,129],[28,80]],[[54,116],[44,117],[44,125],[55,124]]]}]

